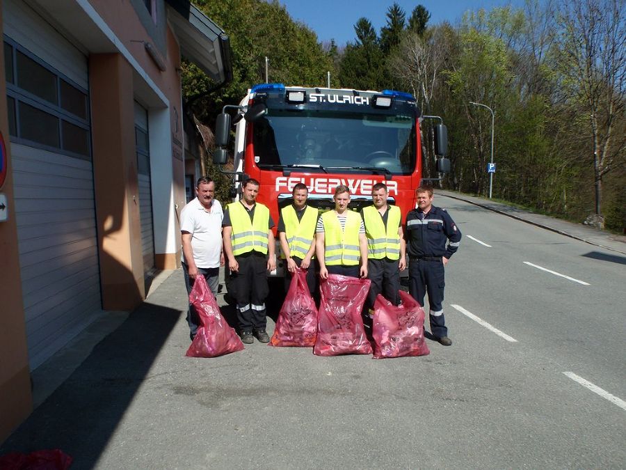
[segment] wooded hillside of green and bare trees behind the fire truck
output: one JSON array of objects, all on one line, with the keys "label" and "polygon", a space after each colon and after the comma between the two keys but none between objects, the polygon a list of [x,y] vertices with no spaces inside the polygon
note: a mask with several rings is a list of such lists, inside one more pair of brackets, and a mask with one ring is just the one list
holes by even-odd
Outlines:
[{"label": "wooded hillside of green and bare trees behind the fire truck", "polygon": [[[380,33],[362,17],[354,25],[354,42],[343,49],[334,41],[320,45],[277,0],[198,1],[230,36],[234,80],[198,100],[193,110],[211,125],[223,104],[236,104],[249,86],[265,81],[265,56],[269,81],[319,86],[330,70],[332,86],[403,89],[448,127],[453,170],[442,185],[485,196],[491,113],[469,102],[485,104],[495,111],[494,198],[582,221],[594,211],[596,164],[604,172],[605,224],[621,233],[625,1],[528,0],[524,10],[470,11],[460,24],[434,26],[428,25],[431,15],[424,6],[417,5],[406,21],[399,4],[392,3]],[[187,97],[214,86],[193,65],[184,64],[183,70]],[[422,123],[426,150],[430,125]],[[433,178],[435,159],[426,155],[424,176]]]}]

